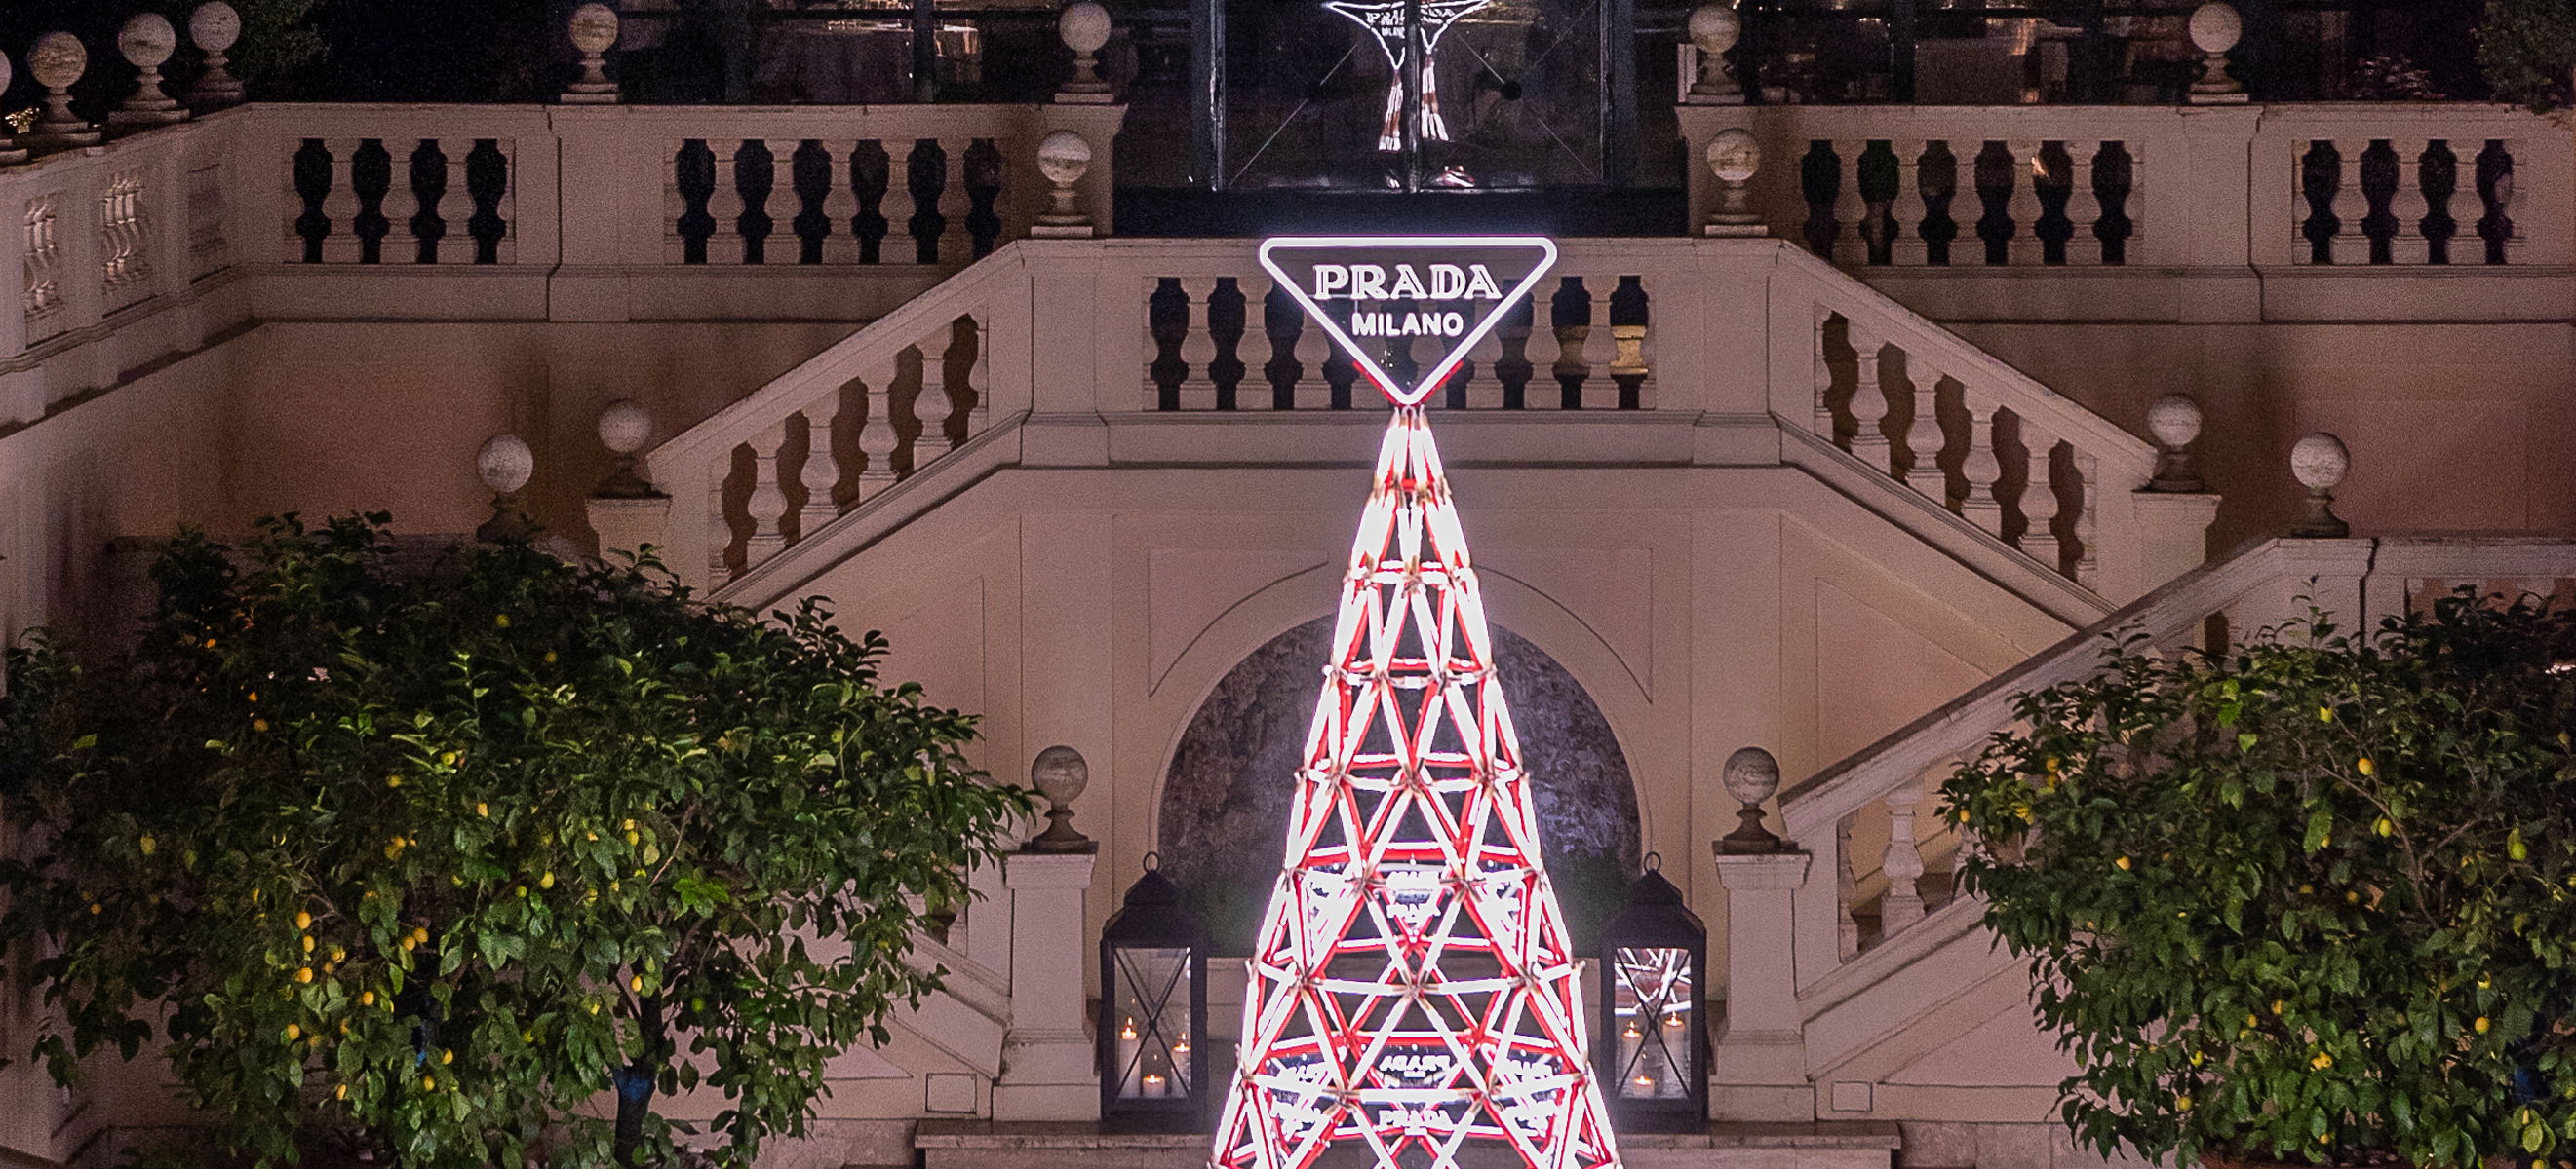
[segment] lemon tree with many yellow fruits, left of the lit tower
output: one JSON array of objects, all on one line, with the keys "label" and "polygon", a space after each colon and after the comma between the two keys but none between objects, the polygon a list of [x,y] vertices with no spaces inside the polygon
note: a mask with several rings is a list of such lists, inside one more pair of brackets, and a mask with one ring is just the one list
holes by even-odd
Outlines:
[{"label": "lemon tree with many yellow fruits, left of the lit tower", "polygon": [[[824,1061],[938,984],[927,914],[1023,793],[884,641],[386,518],[185,536],[126,651],[33,641],[0,698],[0,953],[28,1056],[160,1053],[237,1148],[652,1164],[799,1133]],[[711,1105],[714,1107],[714,1105]]]}]

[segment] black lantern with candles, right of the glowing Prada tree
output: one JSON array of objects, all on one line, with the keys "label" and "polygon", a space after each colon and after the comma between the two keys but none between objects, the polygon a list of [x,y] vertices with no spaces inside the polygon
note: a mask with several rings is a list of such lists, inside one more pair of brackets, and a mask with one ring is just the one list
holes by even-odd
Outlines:
[{"label": "black lantern with candles, right of the glowing Prada tree", "polygon": [[1602,927],[1602,1030],[1592,1035],[1610,1118],[1633,1133],[1708,1128],[1708,927],[1664,881],[1662,857]]}]

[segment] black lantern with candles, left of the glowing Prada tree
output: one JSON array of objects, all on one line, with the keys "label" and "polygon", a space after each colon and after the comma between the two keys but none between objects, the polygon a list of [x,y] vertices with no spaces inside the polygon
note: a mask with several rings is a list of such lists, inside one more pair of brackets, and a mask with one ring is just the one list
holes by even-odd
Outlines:
[{"label": "black lantern with candles, left of the glowing Prada tree", "polygon": [[1100,1128],[1195,1133],[1208,1110],[1208,930],[1144,857],[1100,930]]}]

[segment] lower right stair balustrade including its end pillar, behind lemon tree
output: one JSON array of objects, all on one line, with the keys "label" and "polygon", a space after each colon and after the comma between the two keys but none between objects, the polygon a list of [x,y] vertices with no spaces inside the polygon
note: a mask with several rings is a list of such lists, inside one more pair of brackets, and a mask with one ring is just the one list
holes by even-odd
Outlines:
[{"label": "lower right stair balustrade including its end pillar, behind lemon tree", "polygon": [[[2311,456],[2300,474],[2324,489],[2342,476],[2342,463],[2321,471]],[[2177,577],[1783,790],[1783,842],[1718,842],[1734,978],[1728,1038],[1716,1058],[1718,1118],[1850,1110],[1832,1084],[1808,1084],[1808,1069],[1834,1066],[1909,1012],[2012,960],[1976,937],[1981,906],[1958,896],[1955,870],[1976,842],[1960,839],[1937,814],[1937,788],[1960,760],[2012,726],[2020,695],[2087,677],[2107,639],[2143,636],[2164,651],[2228,644],[2303,621],[2311,605],[2344,628],[2378,628],[2463,584],[2501,600],[2566,603],[2576,597],[2576,541],[2293,536],[2259,543]],[[1767,762],[1767,754],[1749,754]],[[1767,790],[1754,785],[1739,798],[1759,801]],[[1899,971],[1904,994],[1862,994]]]}]

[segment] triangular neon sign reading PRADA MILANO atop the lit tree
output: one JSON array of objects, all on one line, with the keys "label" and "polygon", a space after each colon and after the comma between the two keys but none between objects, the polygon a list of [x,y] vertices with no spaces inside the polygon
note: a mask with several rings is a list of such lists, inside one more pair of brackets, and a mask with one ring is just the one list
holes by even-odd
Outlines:
[{"label": "triangular neon sign reading PRADA MILANO atop the lit tree", "polygon": [[[1262,270],[1399,407],[1422,404],[1556,265],[1535,234],[1293,234],[1262,239]],[[1417,366],[1414,342],[1448,350]],[[1401,368],[1412,376],[1396,376]]]}]

